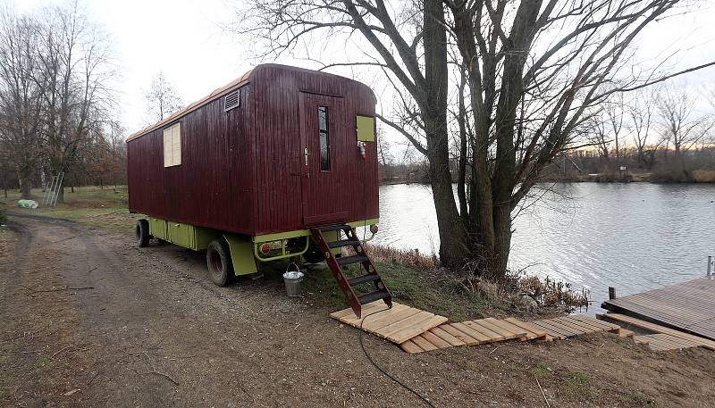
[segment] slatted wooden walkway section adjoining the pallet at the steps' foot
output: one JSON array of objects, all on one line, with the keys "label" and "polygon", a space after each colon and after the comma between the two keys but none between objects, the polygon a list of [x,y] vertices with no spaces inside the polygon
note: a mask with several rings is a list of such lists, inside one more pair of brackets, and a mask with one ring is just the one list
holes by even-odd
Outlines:
[{"label": "slatted wooden walkway section adjoining the pallet at the steps' foot", "polygon": [[503,320],[487,318],[445,323],[409,339],[400,344],[400,347],[409,354],[416,354],[447,347],[478,346],[512,338],[521,341],[534,339],[551,341],[552,339],[546,331],[526,321],[514,318]]}]

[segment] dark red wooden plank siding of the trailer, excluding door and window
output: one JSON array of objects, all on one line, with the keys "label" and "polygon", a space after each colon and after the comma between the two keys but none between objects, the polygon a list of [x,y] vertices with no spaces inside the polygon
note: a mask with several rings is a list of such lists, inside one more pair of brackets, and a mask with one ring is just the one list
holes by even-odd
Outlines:
[{"label": "dark red wooden plank siding of the trailer, excluding door and window", "polygon": [[[351,79],[281,65],[259,65],[241,87],[241,105],[223,112],[223,97],[179,117],[181,165],[164,168],[163,131],[128,142],[130,211],[247,235],[304,229],[299,95],[344,100],[347,158],[333,193],[347,201],[348,221],[378,216],[375,143],[357,154],[355,116],[374,116],[374,95]],[[315,154],[317,159],[317,154]],[[340,189],[340,191],[338,191]]]}]

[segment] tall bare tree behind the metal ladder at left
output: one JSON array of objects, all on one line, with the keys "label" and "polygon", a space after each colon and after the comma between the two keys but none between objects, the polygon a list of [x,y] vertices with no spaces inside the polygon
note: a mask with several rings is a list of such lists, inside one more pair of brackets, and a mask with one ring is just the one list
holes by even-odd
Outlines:
[{"label": "tall bare tree behind the metal ladder at left", "polygon": [[[53,173],[69,172],[111,115],[114,75],[109,42],[79,4],[46,9],[40,26],[38,77],[43,97],[45,154]],[[57,202],[63,202],[60,188]]]}]

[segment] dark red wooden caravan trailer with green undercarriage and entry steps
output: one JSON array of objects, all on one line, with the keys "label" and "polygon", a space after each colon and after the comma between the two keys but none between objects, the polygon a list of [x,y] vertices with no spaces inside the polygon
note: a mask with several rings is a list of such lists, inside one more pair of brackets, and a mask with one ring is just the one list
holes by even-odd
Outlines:
[{"label": "dark red wooden caravan trailer with green undercarriage and entry steps", "polygon": [[[131,135],[129,209],[147,216],[139,246],[206,250],[218,285],[257,262],[325,259],[358,315],[390,304],[354,231],[377,230],[374,106],[355,80],[266,64]],[[356,255],[340,257],[344,246]],[[349,263],[364,274],[346,276]]]}]

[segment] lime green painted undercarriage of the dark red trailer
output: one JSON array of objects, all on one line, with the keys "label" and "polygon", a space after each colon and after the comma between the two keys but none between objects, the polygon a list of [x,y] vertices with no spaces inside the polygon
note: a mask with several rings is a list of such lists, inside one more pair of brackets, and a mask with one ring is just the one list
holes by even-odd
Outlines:
[{"label": "lime green painted undercarriage of the dark red trailer", "polygon": [[[309,229],[298,229],[277,234],[248,237],[226,233],[218,229],[195,227],[181,222],[166,221],[154,217],[147,217],[147,221],[149,223],[149,234],[151,236],[194,251],[206,250],[211,241],[223,237],[229,244],[233,271],[236,275],[256,273],[258,271],[257,262],[270,262],[305,254],[311,235]],[[377,219],[354,221],[349,222],[348,225],[357,228],[374,225],[377,224],[377,222]],[[305,239],[305,244],[302,244],[299,250],[288,250],[286,243],[289,239],[301,238]],[[332,233],[329,233],[325,238],[328,242],[337,241],[340,239],[339,231],[332,231]],[[372,239],[372,236],[366,239],[366,241],[369,239]],[[272,249],[269,254],[261,254],[259,248],[265,244],[273,245],[275,249]],[[341,248],[335,248],[332,251],[333,254],[340,254]]]}]

